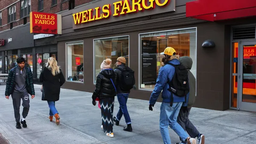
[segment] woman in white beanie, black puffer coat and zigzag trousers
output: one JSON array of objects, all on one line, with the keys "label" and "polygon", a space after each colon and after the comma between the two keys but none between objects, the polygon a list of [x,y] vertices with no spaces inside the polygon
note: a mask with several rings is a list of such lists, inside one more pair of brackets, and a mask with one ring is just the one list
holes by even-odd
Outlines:
[{"label": "woman in white beanie, black puffer coat and zigzag trousers", "polygon": [[102,112],[102,130],[107,133],[108,137],[113,137],[113,109],[116,96],[115,73],[110,69],[111,59],[102,62],[102,69],[97,75],[96,87],[93,92],[93,105],[96,105],[96,98],[99,98]]}]

